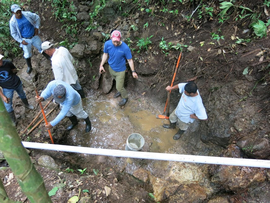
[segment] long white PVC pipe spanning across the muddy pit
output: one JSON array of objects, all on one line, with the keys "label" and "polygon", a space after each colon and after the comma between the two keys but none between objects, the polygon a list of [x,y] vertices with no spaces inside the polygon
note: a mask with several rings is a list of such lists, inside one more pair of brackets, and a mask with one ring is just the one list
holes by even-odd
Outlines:
[{"label": "long white PVC pipe spanning across the muddy pit", "polygon": [[165,153],[153,153],[153,152],[108,150],[108,149],[90,148],[90,147],[43,144],[43,143],[35,143],[35,142],[22,142],[22,144],[25,148],[76,152],[76,153],[92,154],[92,155],[130,157],[130,158],[138,158],[138,159],[155,159],[155,160],[166,160],[166,161],[182,161],[182,162],[192,162],[192,163],[201,163],[201,164],[222,164],[222,165],[232,165],[232,166],[270,168],[270,160],[260,160],[260,159],[238,159],[238,158],[215,157],[215,156],[177,155],[177,154],[165,154]]}]

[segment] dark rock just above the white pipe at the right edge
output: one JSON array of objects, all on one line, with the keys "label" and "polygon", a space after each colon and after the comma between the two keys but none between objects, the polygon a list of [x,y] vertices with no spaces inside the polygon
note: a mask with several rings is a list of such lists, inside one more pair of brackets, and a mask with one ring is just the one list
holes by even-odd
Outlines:
[{"label": "dark rock just above the white pipe at the right edge", "polygon": [[259,138],[253,134],[245,136],[237,145],[249,156],[256,159],[266,159],[270,155],[270,142],[266,138]]}]

